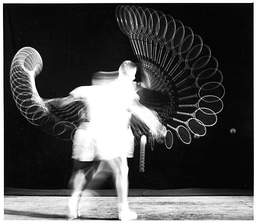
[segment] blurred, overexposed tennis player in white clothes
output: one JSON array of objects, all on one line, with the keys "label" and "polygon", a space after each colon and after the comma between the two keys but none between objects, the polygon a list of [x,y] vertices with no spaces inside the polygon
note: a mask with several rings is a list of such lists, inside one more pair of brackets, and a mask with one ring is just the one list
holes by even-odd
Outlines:
[{"label": "blurred, overexposed tennis player in white clothes", "polygon": [[78,204],[81,193],[96,174],[101,161],[107,162],[115,174],[119,220],[137,218],[137,214],[129,209],[127,199],[127,154],[133,146],[133,135],[129,128],[131,114],[145,123],[150,120],[147,124],[151,134],[158,134],[157,129],[161,124],[151,110],[138,102],[139,96],[132,84],[136,71],[135,63],[124,61],[119,67],[119,77],[110,85],[81,86],[59,102],[60,106],[65,106],[73,100],[83,100],[90,117],[89,122],[82,123],[81,128],[79,126],[74,137],[69,219],[80,215]]}]

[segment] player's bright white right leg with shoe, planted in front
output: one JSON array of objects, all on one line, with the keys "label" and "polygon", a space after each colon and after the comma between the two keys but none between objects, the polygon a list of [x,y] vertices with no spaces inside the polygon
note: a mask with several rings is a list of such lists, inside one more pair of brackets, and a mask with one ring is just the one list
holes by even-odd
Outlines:
[{"label": "player's bright white right leg with shoe, planted in front", "polygon": [[119,198],[119,219],[132,220],[137,218],[137,214],[128,207],[128,164],[126,157],[118,157],[108,160],[111,168],[116,174],[116,191]]}]

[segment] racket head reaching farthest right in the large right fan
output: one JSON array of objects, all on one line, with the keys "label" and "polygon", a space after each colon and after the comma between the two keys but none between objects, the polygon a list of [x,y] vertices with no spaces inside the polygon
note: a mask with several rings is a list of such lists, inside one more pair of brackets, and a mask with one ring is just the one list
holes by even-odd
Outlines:
[{"label": "racket head reaching farthest right in the large right fan", "polygon": [[222,99],[224,94],[225,94],[224,86],[218,82],[206,83],[202,85],[198,91],[198,96],[200,98],[207,95],[213,95],[218,97],[219,99]]}]

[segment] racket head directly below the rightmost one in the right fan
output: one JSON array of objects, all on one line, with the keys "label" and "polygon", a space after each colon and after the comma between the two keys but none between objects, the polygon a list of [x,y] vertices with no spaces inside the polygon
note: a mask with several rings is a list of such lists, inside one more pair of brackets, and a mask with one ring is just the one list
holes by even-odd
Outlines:
[{"label": "racket head directly below the rightmost one in the right fan", "polygon": [[207,108],[218,114],[223,109],[223,102],[220,98],[213,95],[206,95],[197,102],[197,108]]}]

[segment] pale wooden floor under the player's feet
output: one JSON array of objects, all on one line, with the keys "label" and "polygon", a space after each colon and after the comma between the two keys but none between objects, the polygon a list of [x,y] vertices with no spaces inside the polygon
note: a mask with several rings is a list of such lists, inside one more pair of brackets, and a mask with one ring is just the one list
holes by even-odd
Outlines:
[{"label": "pale wooden floor under the player's feet", "polygon": [[[81,197],[76,220],[118,220],[117,197]],[[68,196],[4,196],[4,220],[66,220]],[[128,197],[137,220],[253,220],[253,196]]]}]

